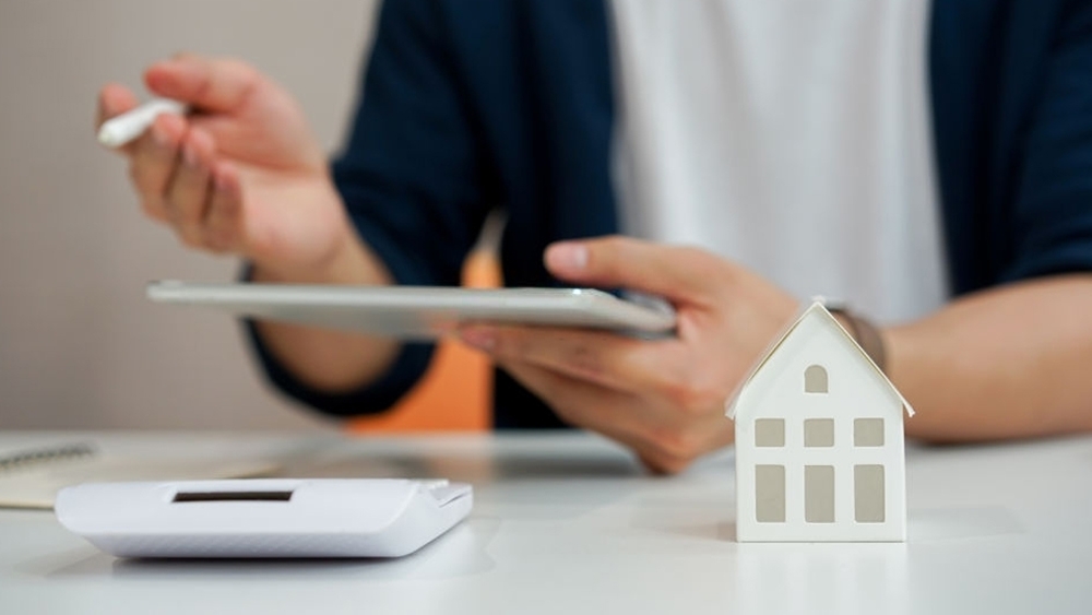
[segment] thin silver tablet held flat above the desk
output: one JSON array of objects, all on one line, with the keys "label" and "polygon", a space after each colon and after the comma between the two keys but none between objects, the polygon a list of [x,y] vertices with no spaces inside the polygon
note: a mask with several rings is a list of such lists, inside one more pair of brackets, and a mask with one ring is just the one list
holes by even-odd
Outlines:
[{"label": "thin silver tablet held flat above the desk", "polygon": [[310,286],[199,284],[147,286],[153,301],[206,306],[235,316],[432,340],[470,323],[605,329],[668,334],[675,314],[591,288],[460,288],[450,286]]}]

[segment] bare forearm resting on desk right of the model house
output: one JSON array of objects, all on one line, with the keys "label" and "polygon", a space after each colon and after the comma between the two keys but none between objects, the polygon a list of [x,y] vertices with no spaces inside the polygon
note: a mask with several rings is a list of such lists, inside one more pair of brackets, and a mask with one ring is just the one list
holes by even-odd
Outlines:
[{"label": "bare forearm resting on desk right of the model house", "polygon": [[885,331],[888,372],[934,441],[1092,430],[1092,275],[975,293]]}]

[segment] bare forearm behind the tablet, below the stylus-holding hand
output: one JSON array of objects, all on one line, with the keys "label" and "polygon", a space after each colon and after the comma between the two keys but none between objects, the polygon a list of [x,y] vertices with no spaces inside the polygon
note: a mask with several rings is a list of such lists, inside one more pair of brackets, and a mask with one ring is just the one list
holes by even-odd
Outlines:
[{"label": "bare forearm behind the tablet, below the stylus-holding hand", "polygon": [[[252,280],[296,284],[392,283],[379,258],[355,236],[319,272],[278,274],[256,265]],[[390,339],[280,322],[259,321],[256,329],[269,352],[296,378],[331,393],[377,379],[391,366],[400,347]]]}]

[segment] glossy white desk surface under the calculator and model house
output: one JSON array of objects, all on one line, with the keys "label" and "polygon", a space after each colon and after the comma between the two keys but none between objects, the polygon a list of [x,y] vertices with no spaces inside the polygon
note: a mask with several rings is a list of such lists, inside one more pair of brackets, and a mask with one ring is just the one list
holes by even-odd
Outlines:
[{"label": "glossy white desk surface under the calculator and model house", "polygon": [[0,613],[1092,613],[1089,438],[911,448],[906,544],[735,543],[731,450],[658,478],[580,434],[238,438],[290,475],[467,481],[475,509],[404,559],[241,563],[116,560],[3,510]]}]

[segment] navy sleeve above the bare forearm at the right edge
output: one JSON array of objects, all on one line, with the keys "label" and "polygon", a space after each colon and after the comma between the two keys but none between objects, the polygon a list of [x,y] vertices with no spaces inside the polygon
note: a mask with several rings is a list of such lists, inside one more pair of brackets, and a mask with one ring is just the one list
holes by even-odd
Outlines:
[{"label": "navy sleeve above the bare forearm at the right edge", "polygon": [[1092,3],[1058,20],[1028,129],[1002,282],[1092,271]]}]

